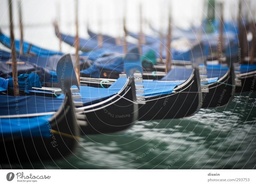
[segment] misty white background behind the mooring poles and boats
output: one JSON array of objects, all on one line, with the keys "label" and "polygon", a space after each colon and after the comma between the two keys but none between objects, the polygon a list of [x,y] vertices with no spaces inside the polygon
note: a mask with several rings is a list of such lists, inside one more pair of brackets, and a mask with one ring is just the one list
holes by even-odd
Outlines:
[{"label": "misty white background behind the mooring poles and boats", "polygon": [[[237,17],[238,1],[224,2],[224,19]],[[15,37],[20,38],[18,0],[13,0]],[[171,11],[173,26],[188,29],[191,25],[200,26],[206,16],[204,0],[78,0],[79,36],[89,38],[87,23],[92,31],[112,36],[123,34],[123,16],[130,31],[139,31],[139,4],[142,17],[157,28],[167,28],[168,11]],[[170,9],[169,9],[170,6]],[[60,31],[75,35],[74,0],[21,0],[24,39],[48,49],[59,49],[52,22],[59,21]],[[218,16],[218,15],[217,15]],[[0,27],[9,35],[8,0],[0,0]],[[147,24],[143,25],[146,34],[154,34]],[[0,46],[3,49],[3,46]],[[5,48],[4,48],[5,49]],[[74,52],[74,48],[62,44],[64,52]]]}]

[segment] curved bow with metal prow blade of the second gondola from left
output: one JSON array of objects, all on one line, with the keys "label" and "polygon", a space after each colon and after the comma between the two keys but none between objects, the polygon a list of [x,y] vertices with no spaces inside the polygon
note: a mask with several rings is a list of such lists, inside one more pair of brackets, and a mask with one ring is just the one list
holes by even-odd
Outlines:
[{"label": "curved bow with metal prow blade of the second gondola from left", "polygon": [[[137,96],[136,81],[141,80],[141,75],[134,75],[135,71],[143,73],[138,48],[132,48],[127,54],[124,68],[126,75],[120,77],[111,85],[119,91],[110,97],[97,99],[78,107],[76,110],[80,115],[86,116],[87,124],[81,125],[84,134],[117,132],[130,127],[138,120],[138,105],[144,103],[142,96]],[[127,78],[126,78],[127,76]]]}]

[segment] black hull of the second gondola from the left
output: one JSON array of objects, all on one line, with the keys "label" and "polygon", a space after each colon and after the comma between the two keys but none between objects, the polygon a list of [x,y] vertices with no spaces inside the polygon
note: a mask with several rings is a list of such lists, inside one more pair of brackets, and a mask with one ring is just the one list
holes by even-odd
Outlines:
[{"label": "black hull of the second gondola from the left", "polygon": [[128,87],[116,97],[100,101],[85,110],[87,125],[80,125],[81,134],[118,132],[129,128],[138,117],[138,104],[133,102],[132,88]]}]

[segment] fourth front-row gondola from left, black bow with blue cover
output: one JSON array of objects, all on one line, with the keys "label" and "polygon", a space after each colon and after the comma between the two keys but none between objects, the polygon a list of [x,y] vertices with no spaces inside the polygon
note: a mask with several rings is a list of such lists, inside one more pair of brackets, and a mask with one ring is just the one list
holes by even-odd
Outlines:
[{"label": "fourth front-row gondola from left, black bow with blue cover", "polygon": [[[201,47],[200,44],[195,46],[194,50],[197,50],[199,55],[205,53],[204,48]],[[197,54],[196,52],[194,53]],[[204,60],[200,61],[200,63],[204,64],[206,62],[206,56],[204,55],[203,58]],[[207,78],[206,76],[205,79],[204,75],[202,75],[201,80],[204,91],[202,108],[221,107],[231,102],[235,93],[235,73],[233,63],[228,56],[226,61],[228,63],[227,68],[224,68],[222,65],[212,65],[212,68],[208,68],[207,72],[211,78]],[[182,80],[182,77],[183,79],[186,78],[186,74],[189,74],[191,71],[191,69],[185,66],[181,68],[175,67],[172,70],[179,75],[174,76],[171,71],[162,80]],[[179,78],[179,76],[181,76],[181,78]]]}]

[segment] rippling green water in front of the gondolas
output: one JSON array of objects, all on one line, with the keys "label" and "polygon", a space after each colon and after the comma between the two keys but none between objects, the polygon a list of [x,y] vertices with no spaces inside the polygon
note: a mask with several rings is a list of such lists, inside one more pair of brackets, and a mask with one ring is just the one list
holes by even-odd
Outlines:
[{"label": "rippling green water in front of the gondolas", "polygon": [[[33,168],[252,169],[256,168],[256,93],[236,94],[226,107],[183,119],[138,121],[112,135],[83,137],[66,160]],[[247,102],[247,103],[245,103]],[[242,111],[244,109],[244,111]],[[19,168],[17,165],[14,168]],[[24,168],[31,168],[24,165]]]}]

